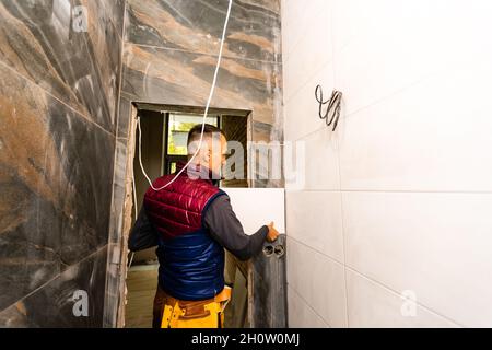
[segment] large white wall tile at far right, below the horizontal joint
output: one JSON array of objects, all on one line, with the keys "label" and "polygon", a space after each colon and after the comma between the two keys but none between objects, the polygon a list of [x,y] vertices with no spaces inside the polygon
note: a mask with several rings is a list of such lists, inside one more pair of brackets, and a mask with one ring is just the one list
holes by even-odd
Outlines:
[{"label": "large white wall tile at far right, below the horizontal joint", "polygon": [[464,326],[492,326],[492,195],[343,192],[345,262]]}]

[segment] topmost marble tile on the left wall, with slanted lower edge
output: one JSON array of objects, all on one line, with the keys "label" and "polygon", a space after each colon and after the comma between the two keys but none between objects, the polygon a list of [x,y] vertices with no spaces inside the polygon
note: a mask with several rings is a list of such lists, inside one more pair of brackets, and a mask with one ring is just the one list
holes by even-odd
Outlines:
[{"label": "topmost marble tile on the left wall, with slanted lower edge", "polygon": [[[86,30],[77,26],[78,5]],[[109,131],[120,84],[121,0],[0,0],[0,60]]]}]

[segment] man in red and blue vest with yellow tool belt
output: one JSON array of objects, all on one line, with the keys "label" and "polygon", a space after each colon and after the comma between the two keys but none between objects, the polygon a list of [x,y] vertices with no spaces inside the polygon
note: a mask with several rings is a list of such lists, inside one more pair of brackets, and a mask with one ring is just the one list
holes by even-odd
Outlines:
[{"label": "man in red and blue vest with yellow tool belt", "polygon": [[[201,125],[188,133],[188,159],[195,154]],[[225,163],[226,139],[204,126],[200,151],[169,186],[150,187],[129,238],[130,250],[157,245],[159,287],[154,299],[154,328],[222,327],[230,299],[224,288],[224,248],[241,260],[261,250],[265,240],[278,232],[263,225],[247,235],[227,195],[216,187]],[[176,174],[185,166],[178,164]],[[165,175],[153,183],[159,189],[175,178]]]}]

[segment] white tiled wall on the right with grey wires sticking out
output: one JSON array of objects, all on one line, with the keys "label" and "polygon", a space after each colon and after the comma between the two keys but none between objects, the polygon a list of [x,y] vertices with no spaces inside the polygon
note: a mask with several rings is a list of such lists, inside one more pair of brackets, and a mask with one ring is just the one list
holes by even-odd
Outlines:
[{"label": "white tiled wall on the right with grey wires sticking out", "polygon": [[[492,326],[491,13],[282,1],[285,140],[307,151],[286,194],[291,326]],[[318,83],[343,92],[336,132]]]}]

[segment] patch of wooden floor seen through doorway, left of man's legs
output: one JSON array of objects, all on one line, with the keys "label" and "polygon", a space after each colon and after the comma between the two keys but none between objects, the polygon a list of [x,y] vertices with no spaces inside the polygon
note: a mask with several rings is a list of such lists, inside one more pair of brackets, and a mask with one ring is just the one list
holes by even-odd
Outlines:
[{"label": "patch of wooden floor seen through doorway, left of man's legs", "polygon": [[127,278],[127,328],[152,327],[152,305],[157,288],[159,265],[136,266],[128,271]]}]

